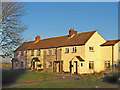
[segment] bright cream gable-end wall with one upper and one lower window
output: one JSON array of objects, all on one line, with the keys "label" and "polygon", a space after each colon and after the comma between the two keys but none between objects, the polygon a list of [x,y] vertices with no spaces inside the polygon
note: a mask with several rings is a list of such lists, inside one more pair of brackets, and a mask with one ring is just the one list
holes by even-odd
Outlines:
[{"label": "bright cream gable-end wall with one upper and one lower window", "polygon": [[[103,67],[101,61],[101,47],[106,40],[96,31],[85,44],[85,67],[86,73],[100,72]],[[89,47],[93,47],[94,51],[89,51]],[[89,61],[94,61],[94,69],[89,69]]]}]

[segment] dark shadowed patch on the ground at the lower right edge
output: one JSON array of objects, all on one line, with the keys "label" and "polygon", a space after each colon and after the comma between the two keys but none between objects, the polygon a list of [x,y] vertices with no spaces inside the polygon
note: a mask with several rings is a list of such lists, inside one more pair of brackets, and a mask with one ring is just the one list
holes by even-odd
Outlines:
[{"label": "dark shadowed patch on the ground at the lower right edge", "polygon": [[109,73],[109,74],[105,74],[105,77],[102,78],[103,82],[107,82],[110,84],[120,84],[119,82],[119,78],[120,78],[120,73]]}]

